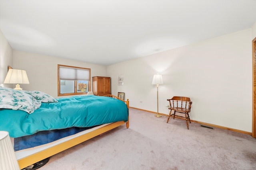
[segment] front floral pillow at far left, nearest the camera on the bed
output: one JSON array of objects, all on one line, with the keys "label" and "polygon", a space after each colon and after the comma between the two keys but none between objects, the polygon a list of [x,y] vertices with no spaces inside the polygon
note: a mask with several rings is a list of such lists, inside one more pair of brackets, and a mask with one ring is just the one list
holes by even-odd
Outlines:
[{"label": "front floral pillow at far left, nearest the camera on the bed", "polygon": [[40,100],[36,100],[36,98],[24,93],[22,90],[0,87],[0,108],[33,113],[40,106]]}]

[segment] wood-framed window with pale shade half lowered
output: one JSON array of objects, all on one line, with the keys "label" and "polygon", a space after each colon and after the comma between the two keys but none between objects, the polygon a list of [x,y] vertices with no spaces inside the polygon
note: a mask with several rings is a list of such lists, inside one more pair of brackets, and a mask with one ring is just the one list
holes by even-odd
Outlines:
[{"label": "wood-framed window with pale shade half lowered", "polygon": [[90,68],[58,64],[58,96],[87,94],[90,75]]}]

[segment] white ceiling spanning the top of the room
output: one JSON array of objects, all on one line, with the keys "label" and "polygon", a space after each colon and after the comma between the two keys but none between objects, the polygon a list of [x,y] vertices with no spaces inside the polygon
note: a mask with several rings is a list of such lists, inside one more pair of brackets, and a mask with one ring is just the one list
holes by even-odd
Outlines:
[{"label": "white ceiling spanning the top of the room", "polygon": [[110,65],[251,28],[256,0],[0,0],[13,49]]}]

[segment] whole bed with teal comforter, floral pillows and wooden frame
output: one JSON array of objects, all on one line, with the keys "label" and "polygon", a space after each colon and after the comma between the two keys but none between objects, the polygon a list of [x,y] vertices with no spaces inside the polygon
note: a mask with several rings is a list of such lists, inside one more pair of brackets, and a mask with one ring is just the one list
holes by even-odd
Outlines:
[{"label": "whole bed with teal comforter, floral pillows and wooden frame", "polygon": [[0,87],[0,131],[13,139],[21,169],[124,123],[128,128],[128,111],[129,100],[113,95],[55,99]]}]

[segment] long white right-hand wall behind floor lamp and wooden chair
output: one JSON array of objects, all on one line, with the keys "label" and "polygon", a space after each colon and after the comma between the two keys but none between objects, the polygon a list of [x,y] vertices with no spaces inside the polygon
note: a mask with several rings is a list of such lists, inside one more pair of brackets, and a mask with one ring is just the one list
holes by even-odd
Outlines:
[{"label": "long white right-hand wall behind floor lamp and wooden chair", "polygon": [[[252,131],[251,29],[208,39],[148,57],[107,67],[112,94],[124,92],[131,107],[157,111],[153,75],[162,74],[159,112],[168,113],[166,99],[188,96],[191,119]],[[124,85],[117,85],[118,74]]]}]

